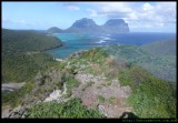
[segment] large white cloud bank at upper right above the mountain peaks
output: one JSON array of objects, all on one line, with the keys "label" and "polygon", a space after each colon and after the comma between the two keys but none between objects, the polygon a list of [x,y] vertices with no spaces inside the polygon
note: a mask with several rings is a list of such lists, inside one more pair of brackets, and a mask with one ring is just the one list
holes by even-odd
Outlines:
[{"label": "large white cloud bank at upper right above the mountain peaks", "polygon": [[121,18],[134,27],[165,27],[176,23],[176,2],[93,2],[90,17]]}]

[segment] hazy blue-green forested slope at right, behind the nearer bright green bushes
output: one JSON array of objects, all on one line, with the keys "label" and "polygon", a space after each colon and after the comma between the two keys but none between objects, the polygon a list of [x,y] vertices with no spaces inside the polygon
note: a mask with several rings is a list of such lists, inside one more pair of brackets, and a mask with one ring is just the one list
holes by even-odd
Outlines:
[{"label": "hazy blue-green forested slope at right, behind the nearer bright green bushes", "polygon": [[[161,44],[165,49],[160,48]],[[156,76],[176,82],[176,42],[165,41],[136,45],[111,45],[106,48],[118,65],[125,61],[128,68],[140,65]]]}]

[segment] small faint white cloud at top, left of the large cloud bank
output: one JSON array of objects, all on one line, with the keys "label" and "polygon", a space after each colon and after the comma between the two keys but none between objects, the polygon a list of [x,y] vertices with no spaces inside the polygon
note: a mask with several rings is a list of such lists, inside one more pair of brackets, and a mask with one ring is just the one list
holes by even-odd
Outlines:
[{"label": "small faint white cloud at top, left of the large cloud bank", "polygon": [[78,3],[76,3],[76,2],[66,2],[66,3],[63,3],[63,7],[66,7],[70,11],[80,10],[80,8],[78,7]]}]

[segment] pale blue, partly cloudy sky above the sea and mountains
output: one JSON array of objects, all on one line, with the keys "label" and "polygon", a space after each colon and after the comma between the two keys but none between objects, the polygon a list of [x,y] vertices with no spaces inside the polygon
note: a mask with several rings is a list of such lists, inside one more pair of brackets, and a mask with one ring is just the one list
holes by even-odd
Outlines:
[{"label": "pale blue, partly cloudy sky above the sea and mountains", "polygon": [[67,29],[81,18],[123,19],[130,32],[176,32],[176,2],[2,2],[2,28]]}]

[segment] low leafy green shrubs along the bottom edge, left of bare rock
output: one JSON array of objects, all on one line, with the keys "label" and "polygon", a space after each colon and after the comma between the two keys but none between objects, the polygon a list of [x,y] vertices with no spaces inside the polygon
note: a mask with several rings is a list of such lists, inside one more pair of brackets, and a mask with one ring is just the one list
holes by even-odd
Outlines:
[{"label": "low leafy green shrubs along the bottom edge, left of bare rock", "polygon": [[81,105],[81,100],[72,99],[68,102],[48,102],[32,105],[28,117],[103,117],[97,110],[88,110]]}]

